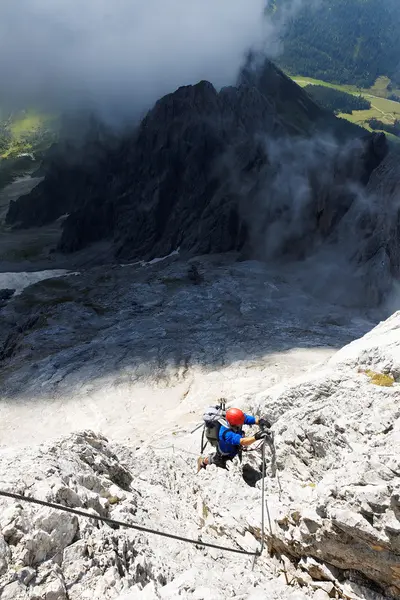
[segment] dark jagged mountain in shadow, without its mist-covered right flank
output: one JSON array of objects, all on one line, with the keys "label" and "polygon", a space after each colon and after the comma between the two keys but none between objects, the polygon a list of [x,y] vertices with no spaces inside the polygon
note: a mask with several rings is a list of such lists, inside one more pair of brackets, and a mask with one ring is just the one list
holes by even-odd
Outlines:
[{"label": "dark jagged mountain in shadow, without its mist-covered right flank", "polygon": [[[202,81],[179,88],[160,99],[134,133],[119,142],[113,137],[109,145],[99,136],[87,152],[79,149],[76,160],[71,147],[67,156],[54,149],[44,181],[11,203],[7,221],[29,227],[68,213],[63,252],[112,239],[120,259],[152,258],[178,247],[191,254],[251,255],[258,245],[254,214],[260,197],[268,208],[279,168],[271,143],[317,132],[351,139],[360,131],[319,108],[267,61],[257,77],[244,70],[237,87],[217,92]],[[384,140],[367,136],[354,147],[348,164],[336,169],[338,186],[346,179],[367,181],[387,151]],[[325,149],[328,170],[340,151]],[[317,215],[321,184],[312,180],[320,176],[320,165],[305,164],[304,170]],[[338,190],[324,194],[343,204]],[[268,213],[267,225],[274,219]],[[267,229],[261,233],[268,235]]]}]

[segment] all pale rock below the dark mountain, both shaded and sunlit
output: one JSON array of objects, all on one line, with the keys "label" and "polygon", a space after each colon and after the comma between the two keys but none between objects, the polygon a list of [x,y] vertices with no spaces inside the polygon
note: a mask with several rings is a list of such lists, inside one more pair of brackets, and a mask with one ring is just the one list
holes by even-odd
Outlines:
[{"label": "all pale rock below the dark mountain, both shaded and sunlit", "polygon": [[10,300],[0,489],[254,552],[260,453],[196,474],[191,431],[225,395],[273,423],[266,549],[252,570],[3,498],[2,600],[400,598],[400,313],[366,333],[372,313],[293,296],[260,263],[202,259],[196,283],[188,271],[178,258],[94,269]]}]

